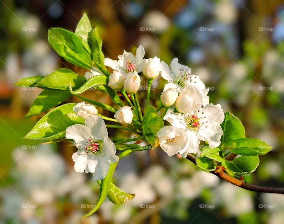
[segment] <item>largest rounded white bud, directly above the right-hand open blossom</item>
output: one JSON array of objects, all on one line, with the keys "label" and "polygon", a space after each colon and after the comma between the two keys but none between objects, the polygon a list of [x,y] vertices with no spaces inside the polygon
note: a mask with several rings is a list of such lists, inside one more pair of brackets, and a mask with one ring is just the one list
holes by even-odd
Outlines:
[{"label": "largest rounded white bud, directly above the right-hand open blossom", "polygon": [[196,86],[185,86],[175,101],[175,108],[181,113],[190,113],[202,106],[203,94]]}]

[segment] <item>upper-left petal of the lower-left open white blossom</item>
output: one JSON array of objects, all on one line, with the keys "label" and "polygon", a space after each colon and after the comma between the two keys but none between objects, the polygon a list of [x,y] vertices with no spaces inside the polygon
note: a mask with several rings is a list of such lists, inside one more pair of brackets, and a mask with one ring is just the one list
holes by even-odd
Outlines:
[{"label": "upper-left petal of the lower-left open white blossom", "polygon": [[92,137],[91,129],[85,125],[72,125],[67,127],[65,138],[73,139],[78,149],[85,148],[85,143]]}]

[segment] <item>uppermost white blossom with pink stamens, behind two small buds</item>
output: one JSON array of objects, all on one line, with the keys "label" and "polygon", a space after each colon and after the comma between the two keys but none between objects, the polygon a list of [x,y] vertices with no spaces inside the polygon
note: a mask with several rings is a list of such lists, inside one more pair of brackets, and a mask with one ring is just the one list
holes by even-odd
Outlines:
[{"label": "uppermost white blossom with pink stamens, behind two small buds", "polygon": [[127,76],[129,72],[142,71],[142,60],[144,58],[145,51],[143,46],[139,46],[136,49],[136,55],[124,51],[123,55],[118,55],[118,61],[110,58],[104,59],[105,66],[111,67],[113,70],[120,71],[124,76]]}]

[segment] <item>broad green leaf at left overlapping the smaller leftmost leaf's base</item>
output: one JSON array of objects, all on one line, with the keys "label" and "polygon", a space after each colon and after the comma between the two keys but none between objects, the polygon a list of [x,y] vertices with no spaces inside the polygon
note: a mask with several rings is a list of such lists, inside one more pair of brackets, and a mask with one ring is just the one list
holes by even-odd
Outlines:
[{"label": "broad green leaf at left overlapping the smaller leftmost leaf's base", "polygon": [[69,90],[70,84],[72,88],[78,89],[84,83],[85,82],[75,72],[68,68],[59,68],[39,81],[36,86],[49,89]]}]

